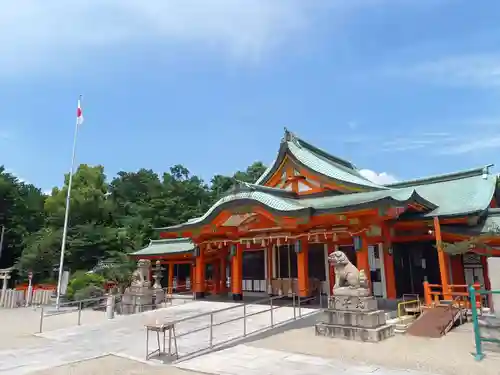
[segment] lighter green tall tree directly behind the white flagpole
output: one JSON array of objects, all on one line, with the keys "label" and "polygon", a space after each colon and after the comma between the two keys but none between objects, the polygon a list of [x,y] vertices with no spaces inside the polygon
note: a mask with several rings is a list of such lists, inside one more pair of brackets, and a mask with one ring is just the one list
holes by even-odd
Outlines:
[{"label": "lighter green tall tree directly behind the white flagpole", "polygon": [[[45,201],[45,226],[26,239],[17,263],[21,273],[32,270],[38,280],[53,276],[59,263],[68,181],[66,175],[64,187],[53,189]],[[107,188],[102,166],[81,165],[73,177],[65,251],[65,265],[71,270],[92,268],[120,243]]]}]

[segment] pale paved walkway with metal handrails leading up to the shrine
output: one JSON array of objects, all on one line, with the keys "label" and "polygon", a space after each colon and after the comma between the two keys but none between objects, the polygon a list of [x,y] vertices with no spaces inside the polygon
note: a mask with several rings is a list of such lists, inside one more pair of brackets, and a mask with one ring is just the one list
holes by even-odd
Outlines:
[{"label": "pale paved walkway with metal handrails leading up to the shrine", "polygon": [[[26,348],[0,351],[0,374],[21,375],[35,370],[48,369],[74,361],[116,353],[127,358],[144,359],[145,329],[148,322],[159,319],[172,321],[204,312],[213,312],[235,306],[228,302],[195,301],[180,306],[145,312],[142,314],[120,316],[116,319],[97,324],[74,326],[65,329],[45,332],[37,336],[45,340],[40,345]],[[247,305],[247,314],[262,311],[247,319],[247,334],[270,326],[270,313],[266,305]],[[302,308],[302,314],[315,312]],[[214,313],[214,324],[222,323],[243,315],[243,307]],[[274,324],[292,319],[294,311],[291,307],[280,307],[273,312]],[[53,317],[56,319],[57,317]],[[177,335],[198,328],[206,328],[196,333],[179,337],[177,340],[179,353],[186,355],[206,349],[209,342],[210,316],[188,320],[176,326]],[[1,331],[0,331],[1,333]],[[213,327],[213,344],[225,342],[243,335],[243,320],[221,324]],[[1,336],[1,335],[0,335]],[[154,349],[155,340],[150,340],[150,350]]]}]

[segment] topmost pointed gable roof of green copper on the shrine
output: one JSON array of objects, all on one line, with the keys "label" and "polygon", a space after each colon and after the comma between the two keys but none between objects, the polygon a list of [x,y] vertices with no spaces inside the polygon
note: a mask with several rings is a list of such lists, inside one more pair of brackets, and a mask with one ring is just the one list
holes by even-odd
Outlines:
[{"label": "topmost pointed gable roof of green copper on the shrine", "polygon": [[256,184],[265,184],[278,170],[286,155],[291,157],[292,160],[296,161],[298,164],[341,184],[363,187],[369,190],[387,189],[363,177],[352,163],[328,154],[298,138],[286,129],[276,160],[262,176],[259,177]]}]

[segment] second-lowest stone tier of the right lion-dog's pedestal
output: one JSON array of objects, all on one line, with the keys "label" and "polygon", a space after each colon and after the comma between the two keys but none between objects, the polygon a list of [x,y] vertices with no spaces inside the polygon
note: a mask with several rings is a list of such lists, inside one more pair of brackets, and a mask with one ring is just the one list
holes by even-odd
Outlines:
[{"label": "second-lowest stone tier of the right lion-dog's pedestal", "polygon": [[359,312],[343,310],[324,310],[321,321],[326,324],[375,328],[386,323],[385,312],[382,310]]}]

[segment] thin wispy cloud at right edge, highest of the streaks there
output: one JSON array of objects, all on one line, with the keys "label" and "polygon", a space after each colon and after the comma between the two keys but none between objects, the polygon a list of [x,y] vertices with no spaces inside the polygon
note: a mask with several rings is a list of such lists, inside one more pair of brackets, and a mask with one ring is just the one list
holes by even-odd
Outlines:
[{"label": "thin wispy cloud at right edge, highest of the streaks there", "polygon": [[500,86],[500,54],[448,56],[386,70],[390,76],[453,86]]}]

